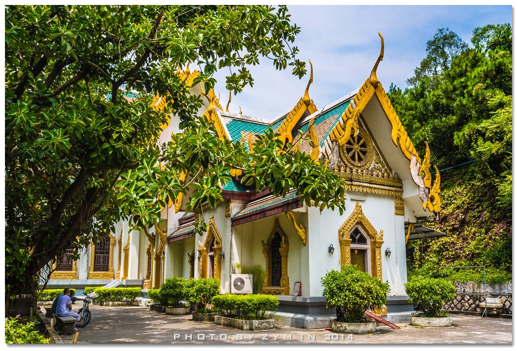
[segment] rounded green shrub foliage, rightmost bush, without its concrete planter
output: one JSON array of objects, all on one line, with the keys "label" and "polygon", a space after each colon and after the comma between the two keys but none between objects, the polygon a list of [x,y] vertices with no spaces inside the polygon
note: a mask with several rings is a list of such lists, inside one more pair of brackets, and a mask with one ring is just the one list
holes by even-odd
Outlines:
[{"label": "rounded green shrub foliage, rightmost bush, without its concrete planter", "polygon": [[409,303],[416,305],[423,317],[444,316],[440,310],[456,297],[456,288],[445,279],[413,276],[404,287]]}]

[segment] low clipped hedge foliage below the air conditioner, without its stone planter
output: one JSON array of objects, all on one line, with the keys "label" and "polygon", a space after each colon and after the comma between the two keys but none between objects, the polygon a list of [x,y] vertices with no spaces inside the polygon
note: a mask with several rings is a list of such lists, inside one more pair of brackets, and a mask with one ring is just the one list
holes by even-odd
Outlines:
[{"label": "low clipped hedge foliage below the air conditioner, without its stone planter", "polygon": [[276,311],[280,302],[273,295],[222,294],[212,298],[212,303],[227,317],[239,319],[264,319],[266,311]]}]

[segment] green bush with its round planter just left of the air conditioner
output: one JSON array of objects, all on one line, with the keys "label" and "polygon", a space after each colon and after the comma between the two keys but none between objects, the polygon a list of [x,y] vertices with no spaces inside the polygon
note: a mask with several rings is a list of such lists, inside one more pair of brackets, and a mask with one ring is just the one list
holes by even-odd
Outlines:
[{"label": "green bush with its round planter just left of the air conditioner", "polygon": [[183,294],[187,303],[195,305],[194,321],[214,321],[217,309],[211,305],[212,297],[219,294],[221,283],[215,278],[190,278],[185,282]]}]

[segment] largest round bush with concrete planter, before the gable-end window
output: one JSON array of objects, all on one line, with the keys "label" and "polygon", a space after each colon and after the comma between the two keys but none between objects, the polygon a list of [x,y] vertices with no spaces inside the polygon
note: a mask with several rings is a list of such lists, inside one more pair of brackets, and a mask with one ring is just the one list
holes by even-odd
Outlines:
[{"label": "largest round bush with concrete planter, before the gable-end window", "polygon": [[341,271],[328,271],[321,280],[327,308],[335,308],[337,319],[331,321],[332,332],[367,334],[377,330],[364,312],[380,308],[388,299],[389,284],[355,266],[342,265]]}]

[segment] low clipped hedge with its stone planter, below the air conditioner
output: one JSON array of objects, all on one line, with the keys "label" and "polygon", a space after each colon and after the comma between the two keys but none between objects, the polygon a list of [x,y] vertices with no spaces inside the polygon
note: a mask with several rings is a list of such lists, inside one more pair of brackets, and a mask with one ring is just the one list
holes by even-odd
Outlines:
[{"label": "low clipped hedge with its stone planter, below the air conditioner", "polygon": [[218,325],[240,330],[272,330],[275,319],[266,318],[266,311],[276,311],[279,301],[274,295],[223,294],[212,298],[221,315],[215,316]]}]

